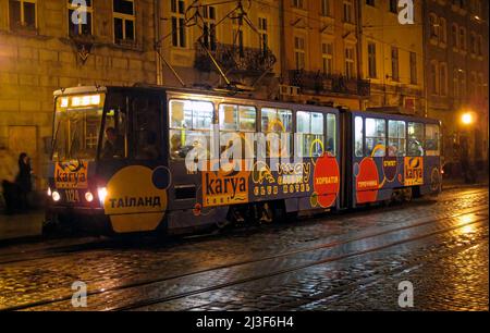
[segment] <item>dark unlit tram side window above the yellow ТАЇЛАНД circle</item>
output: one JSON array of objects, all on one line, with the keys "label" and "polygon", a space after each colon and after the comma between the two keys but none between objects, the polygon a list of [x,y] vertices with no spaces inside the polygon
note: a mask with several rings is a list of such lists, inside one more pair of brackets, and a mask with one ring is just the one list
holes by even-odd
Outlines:
[{"label": "dark unlit tram side window above the yellow \u0422\u0410\u0407\u041b\u0410\u041d\u0414 circle", "polygon": [[158,96],[138,97],[133,101],[137,160],[161,158],[160,111],[161,101]]}]

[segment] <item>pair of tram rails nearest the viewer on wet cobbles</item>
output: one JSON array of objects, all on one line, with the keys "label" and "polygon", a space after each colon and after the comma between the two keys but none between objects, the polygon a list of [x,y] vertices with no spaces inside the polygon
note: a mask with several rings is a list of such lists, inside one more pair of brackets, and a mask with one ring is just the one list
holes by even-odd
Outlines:
[{"label": "pair of tram rails nearest the viewer on wet cobbles", "polygon": [[[299,254],[313,252],[313,251],[317,251],[317,250],[324,250],[324,249],[330,249],[330,248],[342,247],[342,246],[345,246],[345,245],[347,245],[350,243],[362,242],[362,240],[366,240],[366,239],[369,239],[369,238],[376,238],[376,237],[387,236],[387,235],[390,235],[390,234],[403,233],[403,232],[406,232],[408,230],[416,229],[416,227],[422,227],[422,226],[427,226],[427,225],[431,225],[431,224],[438,224],[438,223],[443,222],[444,220],[462,219],[465,215],[469,215],[469,217],[473,215],[474,218],[475,217],[481,217],[481,218],[475,218],[476,219],[475,221],[471,221],[471,222],[468,222],[468,223],[462,223],[462,224],[458,224],[456,226],[444,227],[444,229],[441,229],[441,230],[438,230],[438,231],[434,231],[434,232],[431,232],[431,233],[428,233],[428,234],[418,235],[418,236],[409,237],[408,239],[390,243],[390,244],[383,245],[381,247],[375,247],[375,248],[366,249],[364,251],[357,251],[357,252],[347,254],[347,255],[343,255],[343,256],[326,258],[326,259],[322,259],[322,260],[319,260],[319,261],[315,261],[315,262],[311,262],[311,263],[308,263],[308,264],[296,266],[296,267],[289,268],[289,269],[285,269],[285,270],[279,270],[279,271],[275,271],[275,272],[270,273],[270,274],[256,275],[256,276],[252,276],[252,278],[247,278],[247,279],[241,279],[241,280],[238,279],[238,280],[233,281],[231,283],[212,285],[212,286],[209,286],[209,287],[200,288],[200,289],[188,292],[188,293],[181,293],[181,294],[169,296],[169,297],[146,300],[144,303],[139,303],[139,304],[127,306],[127,307],[111,308],[109,310],[137,309],[137,308],[142,308],[142,307],[145,307],[145,306],[159,304],[159,303],[171,301],[171,300],[179,299],[179,298],[185,298],[185,297],[188,297],[188,296],[193,296],[193,295],[197,295],[197,294],[201,294],[201,293],[206,293],[206,292],[210,292],[210,291],[224,288],[224,287],[236,285],[236,284],[242,284],[242,283],[252,282],[252,281],[261,280],[261,279],[268,279],[268,278],[275,276],[275,275],[279,275],[279,274],[284,274],[284,273],[294,272],[294,271],[297,271],[297,270],[303,270],[303,269],[306,269],[306,268],[309,268],[309,267],[313,267],[313,266],[318,266],[318,264],[322,264],[322,263],[329,263],[329,262],[332,262],[332,261],[339,261],[339,260],[343,260],[343,259],[355,257],[355,256],[362,256],[364,254],[381,250],[381,249],[384,249],[384,248],[388,248],[388,247],[392,247],[392,246],[395,246],[395,245],[414,242],[414,240],[417,240],[417,239],[430,237],[430,236],[433,236],[433,235],[437,235],[437,234],[441,234],[441,233],[451,232],[453,230],[456,230],[456,229],[460,229],[460,227],[464,227],[464,226],[466,226],[468,224],[482,223],[483,221],[488,221],[488,215],[486,215],[483,213],[483,211],[485,212],[488,211],[488,206],[487,205],[467,209],[464,212],[453,214],[450,218],[427,220],[427,221],[424,221],[424,222],[409,224],[409,225],[402,226],[402,227],[389,229],[389,230],[385,230],[385,231],[382,231],[382,232],[378,232],[378,233],[371,233],[371,234],[366,234],[366,235],[363,235],[363,236],[351,237],[351,238],[347,238],[347,239],[344,239],[344,240],[340,240],[340,242],[330,242],[330,243],[321,244],[321,245],[318,245],[318,246],[306,247],[306,248],[302,248],[302,249],[296,249],[294,251],[286,251],[286,252],[278,254],[278,255],[274,255],[274,256],[265,256],[265,257],[256,259],[256,260],[245,260],[245,261],[240,261],[240,262],[233,262],[233,263],[224,264],[224,266],[221,266],[221,267],[209,268],[209,269],[206,269],[206,270],[188,272],[188,273],[184,273],[184,274],[175,274],[175,275],[166,276],[166,278],[161,278],[161,279],[151,279],[151,280],[148,280],[148,281],[139,281],[139,282],[135,282],[135,283],[128,283],[128,284],[124,284],[124,285],[119,285],[119,286],[115,286],[115,287],[112,287],[112,288],[94,291],[94,292],[89,292],[87,297],[88,297],[88,299],[90,299],[90,297],[97,297],[97,296],[100,296],[100,295],[109,295],[109,293],[123,292],[123,291],[133,289],[133,288],[146,287],[146,286],[150,286],[150,285],[154,285],[154,284],[166,283],[166,282],[169,282],[169,281],[172,281],[172,280],[191,278],[191,276],[195,276],[195,275],[198,275],[198,274],[210,273],[210,272],[213,272],[213,271],[226,270],[226,269],[232,269],[232,268],[236,268],[236,267],[254,264],[254,263],[259,263],[259,262],[264,262],[264,261],[281,259],[281,258],[286,258],[286,257],[291,257],[291,256],[295,256],[295,255],[299,255]],[[479,214],[482,214],[482,215],[479,215]],[[464,219],[462,219],[462,220],[464,220]],[[42,308],[42,307],[48,307],[49,308],[50,305],[57,305],[57,304],[62,304],[63,301],[69,301],[69,300],[71,300],[71,297],[72,297],[72,295],[70,295],[70,296],[66,295],[65,297],[59,297],[57,299],[49,299],[49,300],[45,299],[45,300],[39,300],[39,301],[25,304],[25,305],[20,305],[20,306],[15,306],[15,307],[8,307],[8,308],[3,308],[3,309],[0,309],[0,310],[29,310],[29,309],[35,309],[35,308],[39,308],[39,307],[40,308]]]}]

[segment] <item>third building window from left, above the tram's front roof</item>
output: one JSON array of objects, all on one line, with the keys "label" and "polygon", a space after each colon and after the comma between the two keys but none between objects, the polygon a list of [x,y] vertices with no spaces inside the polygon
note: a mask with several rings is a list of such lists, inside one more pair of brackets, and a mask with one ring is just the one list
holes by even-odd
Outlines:
[{"label": "third building window from left, above the tram's front roof", "polygon": [[114,41],[134,42],[136,39],[136,16],[133,0],[113,0]]}]

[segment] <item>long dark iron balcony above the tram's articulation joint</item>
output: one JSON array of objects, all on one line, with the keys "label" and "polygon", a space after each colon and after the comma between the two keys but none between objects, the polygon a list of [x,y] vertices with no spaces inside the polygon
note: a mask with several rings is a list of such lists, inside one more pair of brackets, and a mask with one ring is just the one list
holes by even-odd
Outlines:
[{"label": "long dark iron balcony above the tram's articulation joint", "polygon": [[356,97],[370,95],[367,79],[347,78],[344,75],[329,75],[321,72],[290,71],[290,85],[297,86],[302,92],[329,96],[342,94]]}]

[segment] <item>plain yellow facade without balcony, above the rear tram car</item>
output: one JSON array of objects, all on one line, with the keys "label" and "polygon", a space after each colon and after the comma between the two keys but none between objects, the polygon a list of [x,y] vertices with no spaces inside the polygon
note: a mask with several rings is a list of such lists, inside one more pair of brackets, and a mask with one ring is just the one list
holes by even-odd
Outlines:
[{"label": "plain yellow facade without balcony, above the rear tram car", "polygon": [[364,109],[424,115],[421,1],[413,24],[401,24],[400,10],[397,0],[360,3],[362,77],[371,83]]}]

